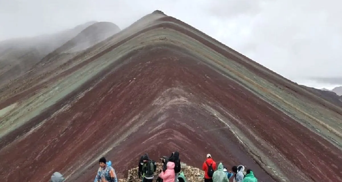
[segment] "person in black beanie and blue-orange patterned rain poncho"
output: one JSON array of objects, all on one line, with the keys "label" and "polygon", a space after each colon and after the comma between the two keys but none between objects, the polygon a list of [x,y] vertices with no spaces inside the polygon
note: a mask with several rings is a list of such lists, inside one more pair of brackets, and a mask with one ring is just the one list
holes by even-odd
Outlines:
[{"label": "person in black beanie and blue-orange patterned rain poncho", "polygon": [[105,157],[101,157],[98,164],[100,167],[97,170],[94,182],[118,182],[114,168],[107,164]]}]

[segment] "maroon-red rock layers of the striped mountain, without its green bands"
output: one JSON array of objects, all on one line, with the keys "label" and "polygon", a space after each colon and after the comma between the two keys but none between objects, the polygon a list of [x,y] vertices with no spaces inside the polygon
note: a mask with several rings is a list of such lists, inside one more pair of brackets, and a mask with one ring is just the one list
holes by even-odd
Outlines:
[{"label": "maroon-red rock layers of the striped mountain, without its green bands", "polygon": [[[154,22],[158,21],[182,24],[168,16]],[[307,95],[267,70],[260,70],[257,64],[248,63],[170,23],[142,29],[96,52],[98,47],[121,36],[124,33],[121,31],[66,64],[41,75],[27,73],[26,78],[4,90],[3,94],[8,95],[0,100],[0,109],[25,102],[58,79],[158,27],[187,34],[259,73],[260,77],[287,88],[288,92],[340,112],[333,104]],[[68,68],[84,54],[94,52],[94,56]],[[24,80],[26,83],[20,85],[19,81]],[[18,92],[14,94],[13,90]],[[247,138],[268,158],[258,158],[237,135]],[[180,151],[182,162],[192,166],[201,167],[207,153],[225,166],[244,164],[260,182],[282,181],[282,177],[308,182],[342,179],[339,148],[219,72],[205,59],[167,41],[121,57],[52,107],[2,137],[0,177],[5,181],[43,182],[54,171],[61,171],[67,181],[90,182],[94,180],[98,158],[104,155],[112,160],[122,178],[145,152],[156,160],[174,150]],[[281,175],[274,174],[265,160],[272,161],[271,167]]]}]

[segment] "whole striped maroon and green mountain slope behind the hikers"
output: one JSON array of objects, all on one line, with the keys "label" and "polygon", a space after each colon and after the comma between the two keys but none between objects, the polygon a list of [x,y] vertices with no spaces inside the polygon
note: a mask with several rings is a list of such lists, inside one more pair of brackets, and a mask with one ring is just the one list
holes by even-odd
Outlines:
[{"label": "whole striped maroon and green mountain slope behind the hikers", "polygon": [[340,107],[160,11],[45,69],[0,93],[5,181],[91,182],[100,156],[123,178],[174,150],[258,181],[342,180]]}]

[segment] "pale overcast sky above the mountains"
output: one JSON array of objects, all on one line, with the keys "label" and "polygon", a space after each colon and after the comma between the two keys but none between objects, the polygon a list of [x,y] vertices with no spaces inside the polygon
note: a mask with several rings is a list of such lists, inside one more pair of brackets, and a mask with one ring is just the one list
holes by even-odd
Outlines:
[{"label": "pale overcast sky above the mountains", "polygon": [[[161,10],[300,84],[342,85],[338,0],[0,0],[0,40]],[[325,83],[320,83],[320,82]]]}]

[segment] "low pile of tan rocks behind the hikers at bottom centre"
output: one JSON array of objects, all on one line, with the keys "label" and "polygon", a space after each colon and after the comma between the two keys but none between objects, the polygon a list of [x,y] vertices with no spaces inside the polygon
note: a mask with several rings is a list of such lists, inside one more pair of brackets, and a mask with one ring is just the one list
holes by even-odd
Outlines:
[{"label": "low pile of tan rocks behind the hikers at bottom centre", "polygon": [[[204,171],[198,169],[196,167],[187,166],[185,163],[181,163],[182,171],[188,182],[198,182],[203,181]],[[154,173],[155,180],[158,178],[159,171],[162,169],[162,164],[157,163],[157,170]],[[138,178],[138,167],[132,168],[128,170],[128,178],[127,179],[119,179],[119,182],[141,182],[141,179]]]}]

